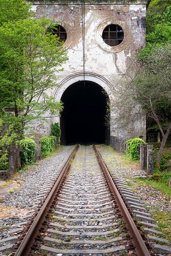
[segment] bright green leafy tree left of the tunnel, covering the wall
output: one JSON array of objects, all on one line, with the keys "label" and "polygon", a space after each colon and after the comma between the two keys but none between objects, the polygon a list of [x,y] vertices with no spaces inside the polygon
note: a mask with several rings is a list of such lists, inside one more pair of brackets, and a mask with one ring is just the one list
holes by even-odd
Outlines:
[{"label": "bright green leafy tree left of the tunnel, covering the wall", "polygon": [[59,38],[48,29],[53,26],[53,20],[28,17],[0,28],[0,117],[17,139],[23,138],[33,119],[41,119],[47,111],[59,115],[62,110],[61,102],[48,95],[58,86],[56,72],[67,60]]}]

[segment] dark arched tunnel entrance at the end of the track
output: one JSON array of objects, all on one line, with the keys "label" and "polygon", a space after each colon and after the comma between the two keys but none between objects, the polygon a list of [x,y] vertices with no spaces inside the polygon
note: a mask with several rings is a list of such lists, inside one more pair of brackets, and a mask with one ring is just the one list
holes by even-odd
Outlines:
[{"label": "dark arched tunnel entrance at the end of the track", "polygon": [[101,86],[78,81],[66,89],[61,101],[61,144],[109,143],[110,125],[105,120],[109,97]]}]

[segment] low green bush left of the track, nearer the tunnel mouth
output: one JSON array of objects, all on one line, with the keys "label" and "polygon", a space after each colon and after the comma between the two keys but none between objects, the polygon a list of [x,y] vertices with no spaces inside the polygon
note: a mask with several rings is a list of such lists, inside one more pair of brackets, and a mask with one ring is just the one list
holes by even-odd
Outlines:
[{"label": "low green bush left of the track, nearer the tunnel mouth", "polygon": [[41,142],[41,156],[47,157],[55,148],[55,136],[48,136],[40,138]]}]

